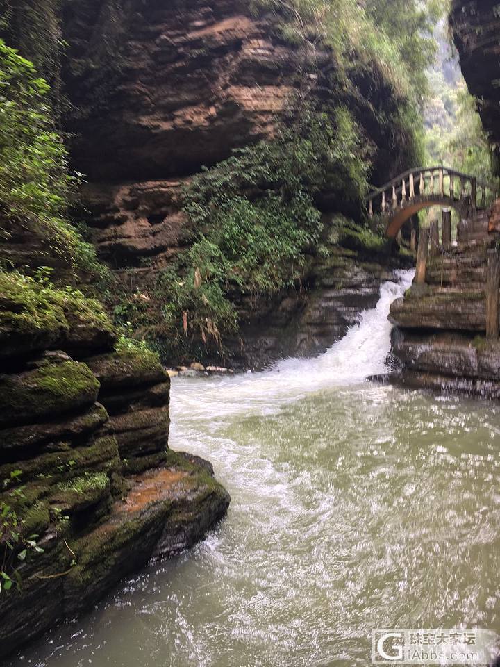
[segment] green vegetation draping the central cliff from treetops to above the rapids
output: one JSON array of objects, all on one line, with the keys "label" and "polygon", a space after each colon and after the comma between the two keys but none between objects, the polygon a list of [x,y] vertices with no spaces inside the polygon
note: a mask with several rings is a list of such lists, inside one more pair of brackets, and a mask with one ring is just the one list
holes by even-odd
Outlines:
[{"label": "green vegetation draping the central cliff from treetops to above the rapids", "polygon": [[[393,4],[389,10],[385,0],[367,8],[354,0],[253,3],[256,13],[274,15],[274,29],[297,47],[297,97],[275,140],[235,151],[192,181],[185,211],[196,230],[193,245],[160,277],[156,297],[164,304],[163,320],[156,331],[163,327],[164,335],[187,347],[200,339],[220,345],[226,332],[238,329],[235,294],[299,284],[322,231],[318,193],[327,191],[343,206],[350,202],[350,212],[362,219],[376,147],[344,100],[359,99],[365,76],[392,99],[393,113],[389,103],[367,106],[394,154],[405,147],[401,167],[422,162],[419,112],[438,7],[401,2],[395,11]],[[326,60],[320,53],[325,48]],[[324,108],[314,101],[316,86],[330,90]],[[147,322],[143,314],[119,308],[133,327]]]}]

